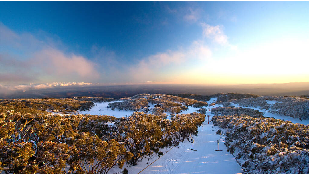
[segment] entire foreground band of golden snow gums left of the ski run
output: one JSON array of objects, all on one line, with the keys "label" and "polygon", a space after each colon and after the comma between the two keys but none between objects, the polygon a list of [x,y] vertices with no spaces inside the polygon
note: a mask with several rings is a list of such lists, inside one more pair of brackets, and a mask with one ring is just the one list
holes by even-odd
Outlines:
[{"label": "entire foreground band of golden snow gums left of the ski run", "polygon": [[144,112],[117,119],[7,111],[0,114],[0,172],[106,174],[162,155],[160,149],[196,135],[204,121],[200,113],[169,120]]}]

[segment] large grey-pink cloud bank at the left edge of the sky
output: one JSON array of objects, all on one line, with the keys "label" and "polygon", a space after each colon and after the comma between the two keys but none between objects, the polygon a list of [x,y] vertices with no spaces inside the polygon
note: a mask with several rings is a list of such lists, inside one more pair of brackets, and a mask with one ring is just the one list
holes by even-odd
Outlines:
[{"label": "large grey-pink cloud bank at the left edge of the sky", "polygon": [[96,63],[65,53],[61,42],[43,31],[16,33],[0,22],[0,83],[92,81],[99,78]]}]

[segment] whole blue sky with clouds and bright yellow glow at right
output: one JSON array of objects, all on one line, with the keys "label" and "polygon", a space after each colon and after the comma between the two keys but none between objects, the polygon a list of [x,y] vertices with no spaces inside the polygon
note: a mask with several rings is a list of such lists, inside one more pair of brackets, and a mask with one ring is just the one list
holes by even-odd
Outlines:
[{"label": "whole blue sky with clouds and bright yellow glow at right", "polygon": [[309,82],[308,9],[308,1],[1,1],[0,88]]}]

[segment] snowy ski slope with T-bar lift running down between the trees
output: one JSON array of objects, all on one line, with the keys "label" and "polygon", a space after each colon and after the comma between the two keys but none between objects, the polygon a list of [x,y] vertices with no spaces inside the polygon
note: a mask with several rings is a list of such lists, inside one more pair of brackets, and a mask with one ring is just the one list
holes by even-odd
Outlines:
[{"label": "snowy ski slope with T-bar lift running down between the trees", "polygon": [[[173,148],[142,171],[141,174],[242,173],[243,170],[239,164],[237,164],[234,156],[226,152],[226,146],[222,139],[219,143],[219,150],[222,151],[214,151],[214,149],[217,149],[217,140],[220,136],[216,135],[215,127],[213,129],[214,131],[212,131],[212,123],[210,122],[210,124],[208,124],[207,122],[206,120],[206,124],[198,128],[198,136],[194,136],[193,149],[197,151],[190,150],[189,148],[192,149],[192,143],[185,140],[184,143],[179,144],[180,149]],[[224,136],[222,138],[224,139]]]}]

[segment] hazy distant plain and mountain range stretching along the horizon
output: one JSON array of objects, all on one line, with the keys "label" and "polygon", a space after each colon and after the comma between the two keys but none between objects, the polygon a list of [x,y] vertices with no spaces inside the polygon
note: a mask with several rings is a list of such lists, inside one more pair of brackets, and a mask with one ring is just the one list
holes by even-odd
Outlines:
[{"label": "hazy distant plain and mountain range stretching along the horizon", "polygon": [[114,86],[78,86],[55,87],[29,91],[15,91],[11,94],[0,94],[0,99],[16,98],[66,98],[66,97],[108,97],[119,99],[131,97],[139,93],[170,94],[188,93],[212,95],[215,93],[252,93],[256,95],[309,95],[309,82],[273,83],[273,84],[242,84],[242,85],[190,85],[190,84],[145,84],[145,85],[114,85]]}]

